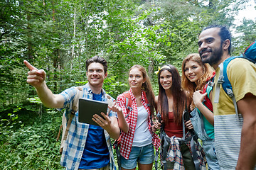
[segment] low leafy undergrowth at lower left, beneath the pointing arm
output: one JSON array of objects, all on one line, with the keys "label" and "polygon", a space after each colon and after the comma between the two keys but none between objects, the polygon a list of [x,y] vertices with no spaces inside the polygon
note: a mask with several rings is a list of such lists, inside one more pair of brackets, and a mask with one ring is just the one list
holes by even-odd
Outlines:
[{"label": "low leafy undergrowth at lower left, beneath the pointing arm", "polygon": [[[9,119],[0,116],[0,169],[65,169],[60,166],[60,140],[56,142],[62,113],[55,109],[43,109],[41,113],[33,110],[37,112],[8,112]],[[117,154],[113,152],[117,166]]]}]

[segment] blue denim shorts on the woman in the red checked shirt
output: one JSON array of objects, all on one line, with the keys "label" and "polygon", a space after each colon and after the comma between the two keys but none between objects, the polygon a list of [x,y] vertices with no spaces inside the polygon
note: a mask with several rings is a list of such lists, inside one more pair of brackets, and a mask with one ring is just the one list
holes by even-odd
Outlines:
[{"label": "blue denim shorts on the woman in the red checked shirt", "polygon": [[124,169],[134,169],[139,164],[151,164],[154,161],[153,144],[144,147],[132,147],[129,159],[121,157],[121,166]]}]

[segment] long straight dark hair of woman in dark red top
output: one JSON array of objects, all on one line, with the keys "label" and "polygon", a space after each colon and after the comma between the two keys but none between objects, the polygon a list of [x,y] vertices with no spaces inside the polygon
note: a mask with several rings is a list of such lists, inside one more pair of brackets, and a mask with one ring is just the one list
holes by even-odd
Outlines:
[{"label": "long straight dark hair of woman in dark red top", "polygon": [[159,97],[158,97],[158,106],[159,112],[163,116],[162,120],[164,123],[168,123],[169,120],[169,105],[168,98],[166,96],[166,92],[160,83],[160,75],[161,72],[167,70],[171,73],[172,84],[171,84],[171,93],[174,96],[174,122],[181,124],[182,123],[182,115],[185,108],[186,103],[186,95],[184,91],[181,90],[181,77],[178,74],[178,69],[171,64],[167,64],[162,67],[158,73],[158,83],[159,83]]}]

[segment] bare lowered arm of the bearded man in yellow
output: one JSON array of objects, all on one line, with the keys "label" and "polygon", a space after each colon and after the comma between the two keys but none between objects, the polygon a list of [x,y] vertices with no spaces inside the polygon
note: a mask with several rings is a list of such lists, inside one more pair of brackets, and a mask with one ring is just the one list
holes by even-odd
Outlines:
[{"label": "bare lowered arm of the bearded man in yellow", "polygon": [[236,169],[254,169],[256,164],[256,96],[246,94],[238,101],[242,113],[242,135],[238,164]]}]

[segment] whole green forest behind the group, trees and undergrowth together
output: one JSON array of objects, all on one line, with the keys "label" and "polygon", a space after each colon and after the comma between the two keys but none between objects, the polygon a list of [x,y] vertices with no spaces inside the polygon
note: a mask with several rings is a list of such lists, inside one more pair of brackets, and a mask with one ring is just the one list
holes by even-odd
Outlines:
[{"label": "whole green forest behind the group, trees and undergrowth together", "polygon": [[[85,60],[105,57],[103,88],[112,97],[129,89],[127,72],[173,64],[198,52],[202,28],[232,30],[232,55],[256,40],[256,20],[235,21],[249,0],[1,0],[0,169],[63,169],[56,142],[63,113],[46,108],[26,83],[28,60],[46,71],[54,94],[86,84]],[[256,7],[256,5],[254,6]],[[249,14],[249,13],[248,13]]]}]

